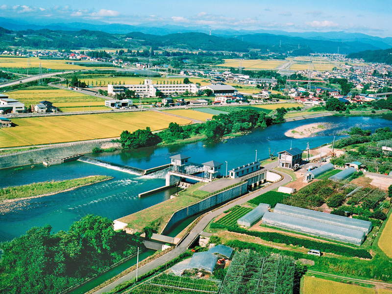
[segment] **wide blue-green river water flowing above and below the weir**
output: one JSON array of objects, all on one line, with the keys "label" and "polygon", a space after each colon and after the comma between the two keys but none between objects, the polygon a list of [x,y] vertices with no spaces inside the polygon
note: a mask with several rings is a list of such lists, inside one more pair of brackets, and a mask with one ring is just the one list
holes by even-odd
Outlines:
[{"label": "wide blue-green river water flowing above and below the weir", "polygon": [[[317,136],[304,139],[292,139],[284,135],[287,130],[309,123],[328,124],[331,128],[319,132]],[[225,161],[230,170],[254,161],[256,150],[257,158],[263,159],[269,156],[269,148],[270,152],[276,155],[277,152],[290,148],[291,145],[305,149],[309,142],[311,148],[318,147],[332,142],[334,135],[337,138],[341,137],[344,131],[353,126],[372,131],[385,126],[392,128],[392,118],[309,119],[272,125],[266,129],[256,129],[245,136],[228,139],[227,142],[197,142],[169,147],[148,147],[91,156],[108,162],[148,169],[170,163],[169,156],[183,153],[191,157],[191,162],[199,164],[210,160],[222,162],[224,163],[222,171],[225,172]],[[165,173],[156,172],[140,176],[79,161],[49,168],[38,165],[34,169],[25,167],[20,171],[15,171],[13,168],[0,170],[0,187],[88,175],[110,175],[114,179],[53,196],[0,204],[0,242],[21,236],[33,226],[48,223],[53,227],[53,231],[68,230],[73,221],[87,214],[96,214],[115,220],[169,199],[173,192],[165,191],[139,198],[139,193],[163,186]]]}]

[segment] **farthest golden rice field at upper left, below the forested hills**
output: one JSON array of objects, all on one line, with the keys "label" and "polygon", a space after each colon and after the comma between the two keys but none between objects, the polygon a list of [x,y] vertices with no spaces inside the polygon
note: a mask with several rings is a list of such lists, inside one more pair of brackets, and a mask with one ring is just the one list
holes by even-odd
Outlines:
[{"label": "farthest golden rice field at upper left, below the forested hills", "polygon": [[39,59],[38,57],[0,57],[1,68],[39,68],[41,67],[51,70],[85,70],[85,69],[95,69],[100,67],[85,67],[80,65],[68,64],[67,62],[72,62],[71,60],[48,60]]}]

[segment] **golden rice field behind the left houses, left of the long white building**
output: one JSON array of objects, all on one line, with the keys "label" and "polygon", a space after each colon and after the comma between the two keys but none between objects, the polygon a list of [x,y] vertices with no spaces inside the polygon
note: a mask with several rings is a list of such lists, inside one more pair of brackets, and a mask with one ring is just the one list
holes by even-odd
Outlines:
[{"label": "golden rice field behind the left houses, left of the long white building", "polygon": [[104,103],[103,98],[63,89],[16,90],[12,92],[6,92],[4,94],[9,96],[9,98],[14,98],[22,103],[25,103],[26,105],[35,104],[43,100],[48,100],[52,103],[89,101],[102,101],[102,103]]}]

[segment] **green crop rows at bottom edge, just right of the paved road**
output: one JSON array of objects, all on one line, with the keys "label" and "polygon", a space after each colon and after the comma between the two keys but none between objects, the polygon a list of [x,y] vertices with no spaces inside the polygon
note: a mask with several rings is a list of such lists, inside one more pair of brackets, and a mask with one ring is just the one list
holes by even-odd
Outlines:
[{"label": "green crop rows at bottom edge, just right of the paved road", "polygon": [[130,294],[214,294],[221,286],[219,280],[196,279],[171,274],[156,275],[130,290]]}]

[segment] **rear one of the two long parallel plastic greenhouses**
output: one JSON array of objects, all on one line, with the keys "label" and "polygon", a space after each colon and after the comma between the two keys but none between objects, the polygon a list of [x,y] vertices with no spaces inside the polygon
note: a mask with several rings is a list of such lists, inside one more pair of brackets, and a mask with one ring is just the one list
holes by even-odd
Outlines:
[{"label": "rear one of the two long parallel plastic greenhouses", "polygon": [[365,232],[365,234],[368,234],[372,228],[371,221],[351,219],[343,216],[333,215],[281,203],[276,204],[273,212],[309,221],[318,221],[322,223],[338,225],[348,229],[360,230]]}]

